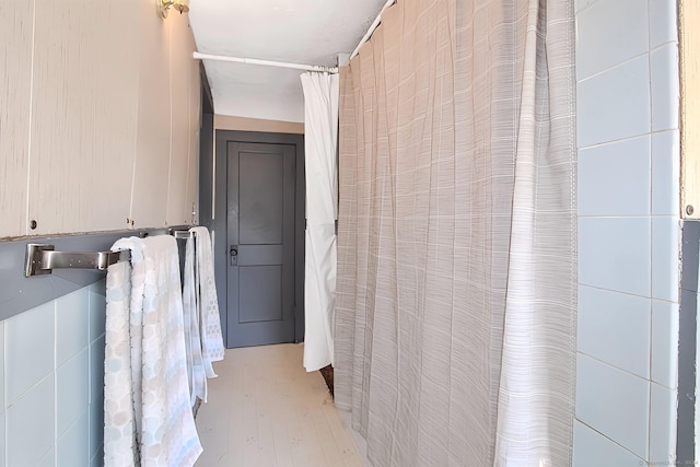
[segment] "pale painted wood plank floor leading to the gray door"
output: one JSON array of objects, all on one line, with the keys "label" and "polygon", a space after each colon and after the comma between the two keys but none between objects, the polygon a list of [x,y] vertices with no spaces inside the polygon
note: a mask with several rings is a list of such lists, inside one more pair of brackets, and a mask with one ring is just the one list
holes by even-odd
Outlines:
[{"label": "pale painted wood plank floor leading to the gray door", "polygon": [[302,355],[293,343],[226,350],[197,415],[197,467],[363,466],[320,373],[306,373]]}]

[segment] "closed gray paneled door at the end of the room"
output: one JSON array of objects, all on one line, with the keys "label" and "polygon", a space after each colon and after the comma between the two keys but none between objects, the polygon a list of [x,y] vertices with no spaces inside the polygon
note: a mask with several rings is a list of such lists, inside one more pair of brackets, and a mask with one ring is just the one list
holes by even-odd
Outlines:
[{"label": "closed gray paneled door at the end of the room", "polygon": [[228,347],[294,341],[293,144],[226,141]]}]

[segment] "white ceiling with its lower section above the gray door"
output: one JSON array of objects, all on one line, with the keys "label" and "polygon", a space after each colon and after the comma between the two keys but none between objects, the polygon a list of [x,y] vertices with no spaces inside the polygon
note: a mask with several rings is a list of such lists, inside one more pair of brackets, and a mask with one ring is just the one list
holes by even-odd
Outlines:
[{"label": "white ceiling with its lower section above the gray door", "polygon": [[[385,0],[194,0],[189,21],[202,54],[336,66]],[[214,112],[304,121],[302,71],[205,60]]]}]

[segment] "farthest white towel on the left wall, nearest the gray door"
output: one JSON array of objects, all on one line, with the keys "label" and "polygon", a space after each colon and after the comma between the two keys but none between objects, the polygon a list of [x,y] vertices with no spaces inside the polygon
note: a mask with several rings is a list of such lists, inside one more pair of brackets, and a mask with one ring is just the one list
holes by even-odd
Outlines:
[{"label": "farthest white towel on the left wall, nearest the gray door", "polygon": [[205,371],[208,377],[215,377],[212,362],[223,360],[224,347],[221,335],[221,318],[219,317],[219,301],[214,282],[213,256],[211,254],[211,238],[207,227],[192,227],[197,240],[197,271],[196,290],[199,291],[197,308],[200,316],[201,348]]}]

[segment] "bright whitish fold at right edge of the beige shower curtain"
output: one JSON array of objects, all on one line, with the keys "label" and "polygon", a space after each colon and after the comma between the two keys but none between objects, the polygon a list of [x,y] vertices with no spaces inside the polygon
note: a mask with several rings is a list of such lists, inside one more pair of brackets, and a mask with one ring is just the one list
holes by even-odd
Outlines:
[{"label": "bright whitish fold at right edge of the beige shower curtain", "polygon": [[497,460],[559,465],[550,453],[571,458],[573,446],[559,433],[571,431],[574,411],[574,23],[567,2],[524,3]]}]

